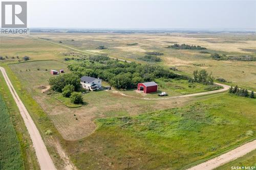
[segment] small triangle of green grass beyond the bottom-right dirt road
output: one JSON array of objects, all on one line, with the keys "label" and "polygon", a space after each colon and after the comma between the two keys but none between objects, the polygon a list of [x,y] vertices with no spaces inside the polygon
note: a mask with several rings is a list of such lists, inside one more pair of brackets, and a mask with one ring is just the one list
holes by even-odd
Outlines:
[{"label": "small triangle of green grass beyond the bottom-right dirt road", "polygon": [[[249,152],[245,156],[236,160],[230,161],[222,166],[216,168],[216,170],[228,170],[231,166],[250,166],[251,169],[256,169],[256,150]],[[254,166],[254,167],[253,167]]]}]

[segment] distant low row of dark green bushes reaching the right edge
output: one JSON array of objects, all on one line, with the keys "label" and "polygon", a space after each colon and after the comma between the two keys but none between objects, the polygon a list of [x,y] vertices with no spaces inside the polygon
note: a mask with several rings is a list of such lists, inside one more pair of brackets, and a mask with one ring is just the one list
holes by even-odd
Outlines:
[{"label": "distant low row of dark green bushes reaching the right edge", "polygon": [[239,61],[256,61],[256,57],[242,55],[242,56],[226,56],[225,54],[214,53],[210,57],[214,60],[239,60]]}]

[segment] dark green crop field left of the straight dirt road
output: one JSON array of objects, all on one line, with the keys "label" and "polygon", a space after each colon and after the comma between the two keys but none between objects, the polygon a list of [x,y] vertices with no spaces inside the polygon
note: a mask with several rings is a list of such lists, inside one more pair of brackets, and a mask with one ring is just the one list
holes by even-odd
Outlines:
[{"label": "dark green crop field left of the straight dirt road", "polygon": [[5,102],[0,95],[0,169],[25,169],[22,151]]}]

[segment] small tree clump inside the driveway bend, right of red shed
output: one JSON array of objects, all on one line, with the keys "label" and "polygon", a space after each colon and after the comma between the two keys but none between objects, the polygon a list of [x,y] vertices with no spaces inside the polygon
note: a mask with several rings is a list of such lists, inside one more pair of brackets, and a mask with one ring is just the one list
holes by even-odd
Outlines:
[{"label": "small tree clump inside the driveway bend, right of red shed", "polygon": [[205,85],[213,85],[214,77],[212,77],[212,74],[209,74],[205,69],[202,69],[200,71],[195,70],[193,71],[193,78],[190,78],[188,82],[197,82]]}]

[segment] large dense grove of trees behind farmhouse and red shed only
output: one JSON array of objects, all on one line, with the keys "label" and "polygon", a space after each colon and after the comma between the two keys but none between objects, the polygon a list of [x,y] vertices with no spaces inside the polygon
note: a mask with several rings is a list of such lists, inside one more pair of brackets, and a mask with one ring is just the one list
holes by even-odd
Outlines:
[{"label": "large dense grove of trees behind farmhouse and red shed only", "polygon": [[100,60],[97,57],[97,60],[95,60],[94,58],[96,57],[91,57],[90,61],[71,64],[68,68],[78,77],[90,76],[100,78],[118,89],[135,88],[140,82],[154,81],[160,77],[188,79],[187,77],[176,75],[162,66],[135,62],[127,63],[110,60],[109,57],[100,58]]}]

